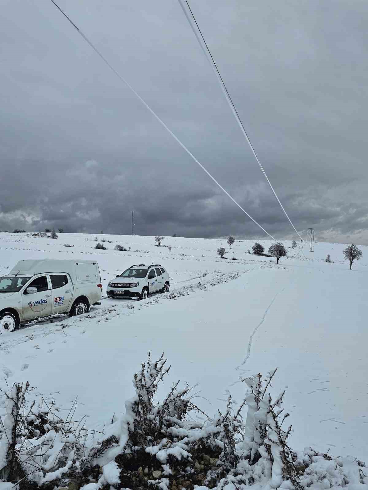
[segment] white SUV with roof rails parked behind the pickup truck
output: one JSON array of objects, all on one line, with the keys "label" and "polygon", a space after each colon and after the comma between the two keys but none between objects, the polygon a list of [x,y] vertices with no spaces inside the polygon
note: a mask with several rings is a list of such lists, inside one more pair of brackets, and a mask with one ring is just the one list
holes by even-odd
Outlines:
[{"label": "white SUV with roof rails parked behind the pickup truck", "polygon": [[151,293],[167,293],[170,290],[169,274],[161,264],[135,264],[124,270],[107,286],[107,296],[129,296],[145,299]]}]

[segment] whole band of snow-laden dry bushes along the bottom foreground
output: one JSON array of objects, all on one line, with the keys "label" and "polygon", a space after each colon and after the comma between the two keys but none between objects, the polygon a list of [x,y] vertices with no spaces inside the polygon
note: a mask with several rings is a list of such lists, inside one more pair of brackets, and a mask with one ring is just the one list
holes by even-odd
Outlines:
[{"label": "whole band of snow-laden dry bushes along the bottom foreground", "polygon": [[149,354],[134,375],[126,414],[113,417],[103,432],[86,429],[84,417],[74,421],[76,404],[63,420],[54,405],[27,402],[28,383],[14,385],[0,423],[0,488],[2,478],[21,489],[48,490],[70,480],[84,490],[368,490],[362,462],[289,447],[291,426],[282,428],[289,417],[281,408],[284,392],[275,400],[269,393],[276,370],[242,379],[247,389],[237,411],[230,396],[226,412],[209,417],[193,404],[192,389],[179,389],[179,382],[156,401],[169,369],[163,355],[153,362]]}]

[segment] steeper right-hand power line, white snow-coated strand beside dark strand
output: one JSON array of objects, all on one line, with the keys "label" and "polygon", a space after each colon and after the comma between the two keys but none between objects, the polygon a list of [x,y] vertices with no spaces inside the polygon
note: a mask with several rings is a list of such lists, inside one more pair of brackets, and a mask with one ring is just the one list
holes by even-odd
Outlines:
[{"label": "steeper right-hand power line, white snow-coated strand beside dark strand", "polygon": [[[199,25],[197,24],[197,21],[195,20],[194,14],[193,14],[193,12],[192,12],[192,10],[191,10],[190,6],[189,6],[189,3],[187,2],[187,0],[185,0],[185,3],[186,3],[186,5],[187,5],[187,7],[188,7],[188,9],[189,9],[189,12],[190,12],[190,14],[191,14],[191,17],[189,16],[189,14],[188,14],[188,12],[187,12],[187,9],[186,9],[186,8],[185,8],[185,6],[184,6],[184,1],[183,1],[183,0],[178,0],[178,1],[179,1],[180,5],[181,5],[181,7],[182,7],[182,9],[183,9],[183,12],[184,12],[184,14],[185,14],[185,17],[187,18],[187,20],[188,20],[188,22],[189,22],[189,25],[191,26],[191,28],[192,28],[192,30],[193,30],[193,32],[194,32],[195,37],[197,38],[197,40],[198,40],[198,42],[199,42],[199,44],[200,44],[200,46],[201,46],[201,48],[202,48],[203,52],[204,52],[204,53],[205,53],[205,55],[206,55],[206,58],[208,59],[208,61],[209,61],[210,65],[211,65],[211,67],[212,67],[212,69],[213,69],[213,71],[214,71],[214,73],[215,73],[215,75],[216,75],[216,77],[217,77],[218,82],[220,83],[220,86],[221,86],[222,92],[223,92],[223,94],[224,94],[224,96],[225,96],[226,100],[228,101],[228,104],[230,105],[230,108],[231,108],[231,110],[233,111],[233,114],[234,114],[234,116],[235,116],[235,119],[237,120],[237,123],[239,124],[240,129],[241,129],[241,131],[242,131],[243,135],[245,136],[245,138],[246,138],[246,140],[247,140],[247,142],[248,142],[248,145],[250,146],[250,148],[251,148],[251,150],[252,150],[252,152],[253,152],[253,155],[254,155],[255,159],[257,160],[258,165],[260,166],[261,171],[263,172],[263,175],[265,176],[265,178],[266,178],[266,180],[267,180],[267,182],[268,182],[268,184],[269,184],[269,186],[270,186],[270,188],[271,188],[271,190],[272,190],[272,192],[273,192],[274,196],[276,197],[277,202],[280,204],[281,209],[284,211],[285,216],[288,218],[288,220],[289,220],[289,222],[290,222],[291,226],[294,228],[294,230],[295,230],[295,231],[296,231],[296,233],[298,234],[298,236],[299,236],[300,240],[302,240],[302,241],[303,241],[302,237],[301,237],[301,236],[299,235],[299,233],[297,232],[297,230],[296,230],[295,226],[292,224],[292,222],[291,222],[291,220],[290,220],[290,218],[289,218],[289,216],[288,216],[288,213],[287,213],[287,212],[285,211],[285,209],[284,209],[284,206],[281,204],[280,199],[278,198],[278,196],[277,196],[277,194],[276,194],[276,192],[275,192],[274,188],[272,187],[271,182],[269,181],[269,179],[268,179],[268,177],[267,177],[267,175],[266,175],[266,172],[264,171],[264,169],[263,169],[263,167],[262,167],[262,165],[261,165],[261,162],[260,162],[260,161],[259,161],[259,159],[258,159],[258,156],[257,156],[257,154],[256,154],[256,152],[255,152],[255,150],[254,150],[254,148],[253,148],[252,143],[250,142],[250,139],[249,139],[249,137],[248,137],[248,134],[247,134],[247,132],[245,131],[245,128],[244,128],[244,126],[243,126],[243,123],[241,122],[241,119],[240,119],[240,117],[239,117],[239,114],[237,113],[237,109],[235,108],[234,102],[233,102],[232,98],[230,97],[230,94],[229,94],[229,92],[228,92],[228,89],[226,88],[225,82],[224,82],[224,80],[222,79],[222,76],[221,76],[221,74],[220,74],[220,72],[219,72],[219,70],[218,70],[218,68],[217,68],[217,65],[216,65],[216,63],[215,63],[215,61],[214,61],[214,59],[213,59],[213,57],[212,57],[212,55],[211,55],[210,49],[209,49],[209,47],[207,46],[207,43],[206,43],[206,41],[205,41],[205,38],[203,37],[202,31],[201,31],[201,29],[199,28]],[[195,25],[193,24],[193,21],[194,21],[194,24],[195,24]],[[199,32],[200,36],[199,36],[198,32]]]}]

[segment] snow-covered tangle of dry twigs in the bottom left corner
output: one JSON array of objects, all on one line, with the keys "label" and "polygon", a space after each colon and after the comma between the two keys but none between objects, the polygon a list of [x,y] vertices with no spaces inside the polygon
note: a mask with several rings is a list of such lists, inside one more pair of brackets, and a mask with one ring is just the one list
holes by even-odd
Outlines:
[{"label": "snow-covered tangle of dry twigs in the bottom left corner", "polygon": [[66,419],[59,417],[54,402],[51,406],[45,400],[39,406],[29,403],[28,388],[28,382],[25,386],[16,383],[5,393],[8,401],[7,415],[0,424],[0,481],[23,482],[26,489],[32,484],[34,488],[46,485],[53,489],[56,483],[76,476],[87,483],[91,462],[116,445],[117,438],[110,435],[98,441],[96,431],[85,429],[86,416],[73,421],[77,402]]}]

